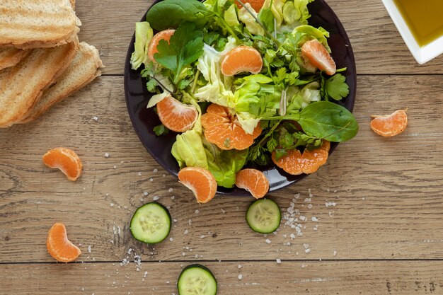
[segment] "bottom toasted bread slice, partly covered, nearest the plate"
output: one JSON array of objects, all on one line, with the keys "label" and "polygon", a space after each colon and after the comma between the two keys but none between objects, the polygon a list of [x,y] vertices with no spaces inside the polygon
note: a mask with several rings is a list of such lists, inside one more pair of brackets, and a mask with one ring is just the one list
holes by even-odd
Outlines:
[{"label": "bottom toasted bread slice, partly covered, nearest the plate", "polygon": [[101,67],[103,67],[103,64],[96,47],[81,42],[79,51],[68,69],[57,79],[54,86],[43,93],[42,98],[18,123],[26,123],[37,119],[53,105],[91,83],[93,79],[101,75]]}]

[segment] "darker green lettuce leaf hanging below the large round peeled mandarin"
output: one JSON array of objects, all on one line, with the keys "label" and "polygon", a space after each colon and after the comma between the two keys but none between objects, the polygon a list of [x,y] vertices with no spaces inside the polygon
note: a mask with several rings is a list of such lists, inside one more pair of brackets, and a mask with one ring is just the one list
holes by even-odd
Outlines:
[{"label": "darker green lettuce leaf hanging below the large round peeled mandarin", "polygon": [[236,174],[246,163],[248,149],[243,151],[222,151],[216,145],[203,140],[209,171],[217,184],[222,187],[234,187]]}]

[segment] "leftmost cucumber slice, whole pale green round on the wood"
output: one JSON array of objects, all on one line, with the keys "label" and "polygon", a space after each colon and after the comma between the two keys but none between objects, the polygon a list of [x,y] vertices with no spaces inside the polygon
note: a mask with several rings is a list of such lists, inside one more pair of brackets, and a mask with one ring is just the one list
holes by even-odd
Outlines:
[{"label": "leftmost cucumber slice, whole pale green round on the wood", "polygon": [[162,204],[151,202],[139,207],[131,219],[131,233],[140,242],[156,244],[171,231],[171,215]]}]

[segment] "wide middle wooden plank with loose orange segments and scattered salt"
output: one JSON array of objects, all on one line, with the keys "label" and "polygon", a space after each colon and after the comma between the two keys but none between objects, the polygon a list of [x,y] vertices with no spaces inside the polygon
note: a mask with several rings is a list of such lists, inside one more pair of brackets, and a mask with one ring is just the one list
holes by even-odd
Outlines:
[{"label": "wide middle wooden plank with loose orange segments and scattered salt", "polygon": [[[341,144],[318,173],[271,194],[282,209],[301,194],[295,208],[303,236],[284,226],[264,237],[244,221],[251,197],[218,196],[199,205],[166,175],[134,134],[122,77],[102,77],[40,120],[0,130],[0,260],[51,261],[45,238],[56,221],[67,224],[84,253],[92,246],[84,261],[120,260],[129,248],[144,260],[442,258],[440,77],[360,76],[358,82],[358,136]],[[369,129],[372,113],[406,107],[404,134],[386,139]],[[41,163],[55,146],[78,151],[84,161],[78,182]],[[128,226],[134,210],[154,196],[177,222],[174,241],[146,247]]]}]

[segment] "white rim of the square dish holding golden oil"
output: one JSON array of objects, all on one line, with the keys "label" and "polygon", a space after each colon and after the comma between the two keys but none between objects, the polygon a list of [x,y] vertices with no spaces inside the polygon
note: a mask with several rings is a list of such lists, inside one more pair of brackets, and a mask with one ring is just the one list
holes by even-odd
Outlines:
[{"label": "white rim of the square dish holding golden oil", "polygon": [[401,37],[403,37],[410,52],[419,64],[425,64],[443,53],[443,36],[428,45],[420,47],[393,0],[382,1],[393,23],[396,25],[398,32],[400,32]]}]

